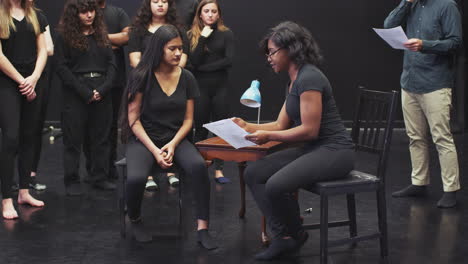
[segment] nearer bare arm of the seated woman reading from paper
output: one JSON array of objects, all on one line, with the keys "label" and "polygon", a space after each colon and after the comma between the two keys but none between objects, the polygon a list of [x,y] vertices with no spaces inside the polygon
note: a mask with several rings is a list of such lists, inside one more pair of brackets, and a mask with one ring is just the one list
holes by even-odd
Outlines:
[{"label": "nearer bare arm of the seated woman reading from paper", "polygon": [[301,94],[301,125],[286,130],[257,130],[246,138],[264,144],[268,141],[302,142],[314,140],[320,131],[322,119],[322,94],[318,91],[306,91]]}]

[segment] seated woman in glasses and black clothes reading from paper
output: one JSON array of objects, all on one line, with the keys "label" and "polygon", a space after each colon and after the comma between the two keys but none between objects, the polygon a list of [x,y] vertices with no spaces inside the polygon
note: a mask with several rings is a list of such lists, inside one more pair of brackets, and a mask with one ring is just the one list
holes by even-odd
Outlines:
[{"label": "seated woman in glasses and black clothes reading from paper", "polygon": [[317,181],[345,177],[354,167],[351,137],[345,130],[328,79],[317,67],[321,54],[310,32],[293,22],[272,28],[261,42],[274,72],[287,72],[286,101],[275,122],[234,121],[252,133],[246,138],[300,143],[249,164],[246,182],[273,233],[269,248],[255,256],[271,260],[293,253],[307,240],[294,193]]}]

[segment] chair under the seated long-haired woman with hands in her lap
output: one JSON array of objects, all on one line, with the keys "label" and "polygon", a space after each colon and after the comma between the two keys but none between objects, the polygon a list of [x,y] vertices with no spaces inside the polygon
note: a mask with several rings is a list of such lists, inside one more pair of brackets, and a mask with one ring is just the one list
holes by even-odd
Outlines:
[{"label": "chair under the seated long-haired woman with hands in her lap", "polygon": [[[120,235],[125,238],[126,237],[126,222],[125,216],[127,215],[127,208],[125,204],[125,197],[127,195],[127,159],[123,158],[115,163],[117,170],[119,171],[120,179],[119,179],[119,217],[120,217]],[[180,172],[176,166],[171,169],[161,169],[156,164],[153,167],[152,175],[157,175],[158,173],[167,173],[167,172]],[[180,174],[179,174],[180,175]],[[179,176],[179,224],[178,224],[178,233],[179,235],[183,235],[183,210],[182,210],[182,186],[183,186],[183,175]]]}]

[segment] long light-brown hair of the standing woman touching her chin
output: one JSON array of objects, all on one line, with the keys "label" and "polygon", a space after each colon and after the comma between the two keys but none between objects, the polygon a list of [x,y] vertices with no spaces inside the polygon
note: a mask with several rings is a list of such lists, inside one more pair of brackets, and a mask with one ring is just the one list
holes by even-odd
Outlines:
[{"label": "long light-brown hair of the standing woman touching her chin", "polygon": [[217,0],[202,0],[200,4],[198,4],[197,12],[195,13],[195,17],[193,18],[192,28],[188,32],[188,36],[190,38],[190,50],[194,50],[198,45],[198,40],[200,39],[201,32],[205,27],[203,20],[200,18],[202,9],[207,4],[215,4],[218,7],[218,14],[219,19],[216,23],[216,29],[219,31],[227,31],[229,30],[228,27],[224,25],[223,15],[221,12],[221,7],[218,4]]}]

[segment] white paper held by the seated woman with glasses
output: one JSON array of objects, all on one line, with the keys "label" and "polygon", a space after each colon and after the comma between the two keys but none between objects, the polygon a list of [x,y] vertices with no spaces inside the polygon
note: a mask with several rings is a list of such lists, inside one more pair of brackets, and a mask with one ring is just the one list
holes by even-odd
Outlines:
[{"label": "white paper held by the seated woman with glasses", "polygon": [[255,143],[244,138],[249,133],[234,123],[234,121],[231,119],[223,119],[204,124],[203,127],[218,137],[224,139],[227,143],[231,144],[231,146],[236,149],[255,146]]}]

